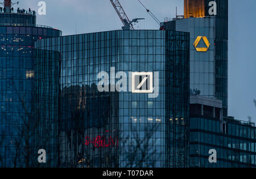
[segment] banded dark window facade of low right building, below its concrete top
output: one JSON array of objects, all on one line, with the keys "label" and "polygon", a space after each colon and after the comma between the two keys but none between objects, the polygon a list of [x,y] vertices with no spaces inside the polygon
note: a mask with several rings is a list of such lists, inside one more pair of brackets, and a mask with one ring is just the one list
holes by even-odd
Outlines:
[{"label": "banded dark window facade of low right building, below its concrete top", "polygon": [[[225,119],[224,119],[225,121]],[[220,120],[191,118],[191,167],[255,168],[256,128],[229,120],[220,132]],[[217,163],[209,163],[209,150],[216,149]]]}]

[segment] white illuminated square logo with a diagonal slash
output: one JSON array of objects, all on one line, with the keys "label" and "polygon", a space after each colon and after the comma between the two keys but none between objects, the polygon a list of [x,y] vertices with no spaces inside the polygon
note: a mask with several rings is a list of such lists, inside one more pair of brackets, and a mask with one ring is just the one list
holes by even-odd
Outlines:
[{"label": "white illuminated square logo with a diagonal slash", "polygon": [[132,82],[133,93],[153,93],[152,72],[133,72]]}]

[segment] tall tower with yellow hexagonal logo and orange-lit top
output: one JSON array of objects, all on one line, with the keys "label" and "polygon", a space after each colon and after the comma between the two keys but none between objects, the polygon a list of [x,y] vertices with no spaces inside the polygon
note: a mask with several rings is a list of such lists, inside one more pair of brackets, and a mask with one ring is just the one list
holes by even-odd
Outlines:
[{"label": "tall tower with yellow hexagonal logo and orange-lit top", "polygon": [[164,22],[166,30],[190,32],[191,90],[223,102],[228,115],[228,0],[216,0],[217,14],[210,15],[210,0],[184,0],[184,18]]}]

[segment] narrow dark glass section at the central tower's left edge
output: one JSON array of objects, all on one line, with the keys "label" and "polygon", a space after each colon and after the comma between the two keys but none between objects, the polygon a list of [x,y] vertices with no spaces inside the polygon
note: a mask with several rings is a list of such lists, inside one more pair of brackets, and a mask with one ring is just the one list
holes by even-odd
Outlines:
[{"label": "narrow dark glass section at the central tower's left edge", "polygon": [[[41,60],[43,59],[43,60]],[[49,166],[59,166],[58,156],[58,124],[60,113],[60,53],[56,51],[35,50],[35,121],[36,125],[35,157],[37,161],[38,149],[50,151],[47,156]],[[44,109],[44,110],[41,110]],[[42,120],[39,120],[42,119]],[[33,167],[40,167],[42,164],[35,163]]]}]

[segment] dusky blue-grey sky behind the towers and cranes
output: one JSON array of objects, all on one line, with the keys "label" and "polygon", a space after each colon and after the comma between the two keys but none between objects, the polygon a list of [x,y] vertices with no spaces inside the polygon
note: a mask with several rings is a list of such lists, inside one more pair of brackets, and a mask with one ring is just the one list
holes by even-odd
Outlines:
[{"label": "dusky blue-grey sky behind the towers and cranes", "polygon": [[[135,28],[158,29],[158,24],[137,0],[119,0]],[[183,15],[183,0],[141,0],[161,21]],[[15,2],[15,1],[13,1]],[[38,11],[38,0],[20,0],[19,7]],[[58,28],[63,35],[121,29],[122,23],[109,0],[45,0],[46,15],[37,23]],[[18,7],[15,6],[15,7]],[[229,0],[229,115],[256,123],[256,1]],[[15,8],[16,9],[16,8]]]}]

